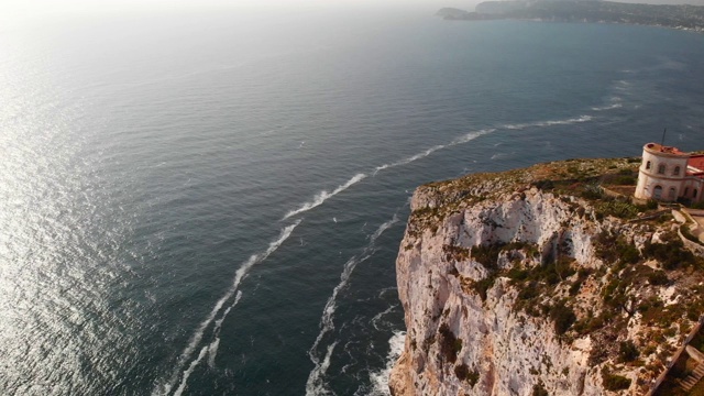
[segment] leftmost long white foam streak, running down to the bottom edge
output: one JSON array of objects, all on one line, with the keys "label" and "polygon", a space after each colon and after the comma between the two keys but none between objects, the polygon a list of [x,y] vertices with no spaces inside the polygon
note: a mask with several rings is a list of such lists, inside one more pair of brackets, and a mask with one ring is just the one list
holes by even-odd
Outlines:
[{"label": "leftmost long white foam streak, running down to the bottom edge", "polygon": [[[266,249],[266,251],[260,254],[253,254],[252,256],[250,256],[250,258],[246,262],[244,262],[240,266],[240,268],[238,268],[238,271],[234,274],[234,279],[232,279],[232,286],[230,286],[230,289],[228,289],[228,292],[218,300],[218,302],[212,308],[212,310],[210,311],[206,320],[204,320],[200,323],[200,326],[198,327],[194,336],[191,336],[190,341],[188,342],[188,345],[186,346],[186,349],[184,349],[180,356],[178,356],[176,369],[174,370],[174,373],[172,374],[172,377],[168,381],[168,384],[166,384],[163,388],[161,388],[161,386],[157,386],[152,392],[152,395],[168,395],[170,393],[172,388],[176,384],[176,381],[178,381],[179,373],[184,369],[184,365],[193,355],[194,351],[196,350],[196,346],[200,344],[200,341],[202,340],[206,329],[208,328],[208,326],[210,326],[210,323],[212,323],[218,312],[222,309],[222,306],[229,299],[232,298],[238,287],[240,286],[242,278],[250,272],[250,270],[255,264],[263,262],[264,260],[266,260],[266,257],[268,257],[272,253],[274,253],[274,251],[276,251],[278,246],[280,246],[284,243],[284,241],[286,241],[288,237],[290,237],[292,232],[298,224],[300,224],[300,220],[297,220],[295,223],[284,228],[280,234],[278,235],[278,238],[268,244],[268,248]],[[238,294],[238,298],[235,298],[234,302],[230,305],[230,307],[227,309],[226,315],[227,312],[230,311],[232,307],[234,307],[238,304],[238,301],[240,300],[239,297],[241,297],[240,294]],[[224,319],[224,315],[219,320],[219,323],[217,323],[218,326],[222,324],[222,319]],[[207,350],[207,346],[205,349]],[[201,350],[200,353],[202,354],[205,352]],[[201,359],[202,356],[199,355],[194,363],[196,363],[197,365],[198,363],[200,363]],[[194,363],[191,363],[193,367],[195,367]],[[184,381],[182,381],[183,386],[185,386],[185,380],[187,378],[186,374],[190,375],[190,371],[193,371],[193,367],[189,367],[188,370],[186,370],[186,372],[184,372]]]}]

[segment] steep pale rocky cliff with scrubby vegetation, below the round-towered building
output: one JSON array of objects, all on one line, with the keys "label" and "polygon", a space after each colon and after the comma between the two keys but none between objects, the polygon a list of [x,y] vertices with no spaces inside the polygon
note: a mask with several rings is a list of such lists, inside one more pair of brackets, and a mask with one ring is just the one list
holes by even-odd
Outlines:
[{"label": "steep pale rocky cliff with scrubby vegetation, below the round-towered building", "polygon": [[396,262],[407,333],[392,394],[647,393],[704,311],[704,264],[670,215],[601,188],[638,165],[418,188]]}]

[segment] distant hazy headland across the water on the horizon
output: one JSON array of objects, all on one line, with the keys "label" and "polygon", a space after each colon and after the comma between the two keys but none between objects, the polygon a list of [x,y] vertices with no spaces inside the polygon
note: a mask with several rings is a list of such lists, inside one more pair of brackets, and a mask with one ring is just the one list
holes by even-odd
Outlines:
[{"label": "distant hazy headland across the water on the horizon", "polygon": [[470,12],[440,9],[449,21],[529,20],[541,22],[623,23],[704,32],[704,7],[631,4],[612,1],[484,1]]}]

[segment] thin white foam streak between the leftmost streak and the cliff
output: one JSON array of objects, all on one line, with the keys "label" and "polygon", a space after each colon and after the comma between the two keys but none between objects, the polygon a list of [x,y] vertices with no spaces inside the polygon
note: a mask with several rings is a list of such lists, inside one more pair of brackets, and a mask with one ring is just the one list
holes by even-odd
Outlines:
[{"label": "thin white foam streak between the leftmost streak and the cliff", "polygon": [[310,374],[308,375],[308,381],[306,382],[307,396],[320,395],[321,392],[322,394],[327,393],[323,386],[322,376],[324,375],[326,371],[328,370],[328,365],[330,364],[329,360],[330,360],[330,354],[332,353],[331,348],[334,346],[337,342],[332,343],[331,346],[328,346],[328,354],[322,361],[320,361],[320,359],[316,355],[316,350],[318,349],[318,345],[322,341],[322,338],[334,329],[334,323],[332,322],[332,316],[337,309],[338,294],[350,282],[350,275],[352,275],[352,272],[354,271],[356,265],[369,260],[372,256],[372,254],[374,253],[374,244],[376,240],[384,233],[384,231],[388,230],[397,221],[398,221],[398,217],[394,215],[394,217],[391,220],[381,224],[376,229],[376,231],[371,235],[370,243],[366,245],[366,248],[362,252],[362,255],[360,257],[352,256],[352,258],[348,260],[348,262],[344,263],[342,275],[340,275],[340,283],[338,284],[338,286],[334,287],[334,289],[332,289],[332,295],[330,296],[330,298],[328,298],[328,301],[326,302],[326,307],[322,309],[322,317],[320,318],[320,333],[318,334],[318,337],[316,338],[316,341],[314,342],[312,346],[308,351],[308,356],[310,356],[310,361],[315,364],[315,367],[310,371]]}]

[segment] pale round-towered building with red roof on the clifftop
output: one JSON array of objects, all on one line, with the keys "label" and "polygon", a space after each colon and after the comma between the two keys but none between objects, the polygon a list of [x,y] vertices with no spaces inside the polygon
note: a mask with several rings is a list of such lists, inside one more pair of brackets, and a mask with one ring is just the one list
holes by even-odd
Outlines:
[{"label": "pale round-towered building with red roof on the clifftop", "polygon": [[689,154],[658,143],[642,147],[636,198],[698,202],[703,187],[704,154]]}]

